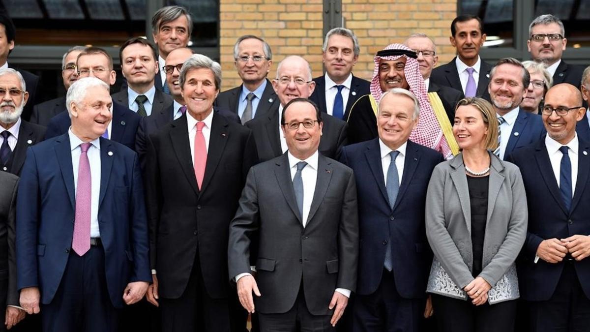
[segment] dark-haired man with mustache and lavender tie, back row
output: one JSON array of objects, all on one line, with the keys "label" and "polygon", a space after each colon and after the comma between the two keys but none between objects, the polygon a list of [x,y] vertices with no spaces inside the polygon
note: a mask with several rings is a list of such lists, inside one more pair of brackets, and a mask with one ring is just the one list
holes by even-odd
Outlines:
[{"label": "dark-haired man with mustache and lavender tie, back row", "polygon": [[457,56],[450,63],[432,71],[434,83],[460,90],[466,97],[483,97],[490,100],[487,83],[490,82],[489,63],[481,60],[480,48],[486,41],[481,19],[474,15],[461,15],[451,22],[451,45]]}]

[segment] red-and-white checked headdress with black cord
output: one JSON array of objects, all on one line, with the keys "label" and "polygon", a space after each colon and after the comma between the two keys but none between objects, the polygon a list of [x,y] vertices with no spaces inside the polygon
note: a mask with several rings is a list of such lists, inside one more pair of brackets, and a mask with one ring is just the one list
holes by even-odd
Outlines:
[{"label": "red-and-white checked headdress with black cord", "polygon": [[[400,52],[386,52],[387,50],[400,50]],[[416,142],[420,145],[441,152],[445,159],[448,159],[452,157],[453,154],[451,148],[448,146],[447,140],[444,138],[444,135],[442,135],[442,129],[438,123],[437,116],[434,114],[434,110],[430,106],[428,90],[426,89],[426,84],[424,84],[424,79],[420,73],[418,60],[416,60],[417,56],[414,51],[403,44],[390,44],[383,48],[382,51],[377,52],[377,55],[374,58],[375,70],[373,70],[373,79],[371,80],[371,95],[373,95],[376,102],[379,102],[381,96],[385,93],[381,90],[381,84],[379,84],[379,65],[381,64],[381,60],[391,61],[397,60],[400,57],[406,58],[404,74],[405,80],[409,85],[409,91],[417,97],[418,102],[420,103],[420,118],[418,125],[412,131],[412,134],[410,134],[409,139],[412,142]]]}]

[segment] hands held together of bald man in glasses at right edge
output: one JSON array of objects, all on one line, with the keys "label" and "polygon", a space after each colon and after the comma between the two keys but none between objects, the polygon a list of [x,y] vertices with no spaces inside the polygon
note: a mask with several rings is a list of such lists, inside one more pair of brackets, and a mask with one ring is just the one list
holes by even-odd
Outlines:
[{"label": "hands held together of bald man in glasses at right edge", "polygon": [[571,253],[573,259],[581,261],[590,255],[590,236],[572,235],[566,239],[543,240],[537,248],[537,256],[548,263],[559,263]]}]

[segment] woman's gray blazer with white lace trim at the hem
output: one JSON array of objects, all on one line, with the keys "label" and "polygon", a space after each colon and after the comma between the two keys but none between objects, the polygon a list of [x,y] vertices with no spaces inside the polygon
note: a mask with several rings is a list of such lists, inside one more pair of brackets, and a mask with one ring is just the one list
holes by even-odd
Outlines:
[{"label": "woman's gray blazer with white lace trim at the hem", "polygon": [[[527,206],[520,170],[490,153],[483,270],[490,304],[519,297],[514,261],[525,242]],[[473,276],[471,206],[463,154],[434,168],[426,196],[426,235],[434,252],[428,292],[467,300]]]}]

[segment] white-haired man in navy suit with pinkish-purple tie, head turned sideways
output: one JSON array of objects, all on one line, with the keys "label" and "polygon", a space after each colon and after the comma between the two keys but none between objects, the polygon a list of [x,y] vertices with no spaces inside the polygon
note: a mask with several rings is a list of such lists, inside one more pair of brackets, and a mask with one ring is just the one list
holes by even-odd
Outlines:
[{"label": "white-haired man in navy suit with pinkish-purple tie, head turned sideways", "polygon": [[41,311],[46,332],[115,331],[118,309],[152,279],[141,170],[135,152],[101,138],[107,84],[80,79],[66,100],[70,129],[27,150],[19,182],[20,304]]}]

